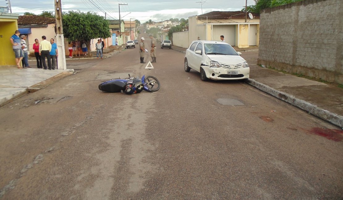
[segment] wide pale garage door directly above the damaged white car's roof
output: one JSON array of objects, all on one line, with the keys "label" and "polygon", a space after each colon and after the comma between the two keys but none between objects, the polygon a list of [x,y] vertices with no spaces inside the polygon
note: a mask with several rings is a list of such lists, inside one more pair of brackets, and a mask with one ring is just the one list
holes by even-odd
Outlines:
[{"label": "wide pale garage door directly above the damaged white car's roof", "polygon": [[220,36],[231,46],[235,46],[236,25],[213,25],[212,40],[221,41]]}]

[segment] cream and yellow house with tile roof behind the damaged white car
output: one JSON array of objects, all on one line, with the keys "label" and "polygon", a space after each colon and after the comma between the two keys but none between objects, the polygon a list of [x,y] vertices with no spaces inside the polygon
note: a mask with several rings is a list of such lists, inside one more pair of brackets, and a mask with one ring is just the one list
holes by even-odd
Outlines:
[{"label": "cream and yellow house with tile roof behind the damaged white car", "polygon": [[[250,15],[250,17],[249,17]],[[221,41],[245,48],[259,45],[260,15],[243,11],[212,11],[188,17],[188,31],[173,33],[173,44],[188,48],[192,41]]]}]

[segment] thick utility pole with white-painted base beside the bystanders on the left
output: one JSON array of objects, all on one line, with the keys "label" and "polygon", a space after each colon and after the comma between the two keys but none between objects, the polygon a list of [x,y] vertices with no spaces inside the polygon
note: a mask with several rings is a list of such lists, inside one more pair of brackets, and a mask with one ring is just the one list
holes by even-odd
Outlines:
[{"label": "thick utility pole with white-painted base beside the bystanders on the left", "polygon": [[56,44],[58,69],[67,70],[66,51],[64,50],[64,36],[62,28],[62,6],[61,0],[55,0],[55,20],[56,20]]}]

